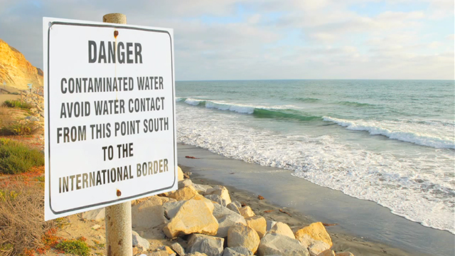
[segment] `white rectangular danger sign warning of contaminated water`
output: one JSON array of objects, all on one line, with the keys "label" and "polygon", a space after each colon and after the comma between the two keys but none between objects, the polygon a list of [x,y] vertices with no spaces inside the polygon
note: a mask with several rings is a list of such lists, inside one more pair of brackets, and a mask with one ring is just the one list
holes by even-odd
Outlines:
[{"label": "white rectangular danger sign warning of contaminated water", "polygon": [[177,189],[173,30],[43,18],[45,220]]}]

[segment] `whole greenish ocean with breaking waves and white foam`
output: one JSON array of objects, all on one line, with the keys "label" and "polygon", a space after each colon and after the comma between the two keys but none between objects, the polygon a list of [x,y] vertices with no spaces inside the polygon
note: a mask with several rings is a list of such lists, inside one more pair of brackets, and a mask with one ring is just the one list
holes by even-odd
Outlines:
[{"label": "whole greenish ocean with breaking waves and white foam", "polygon": [[455,234],[453,80],[176,82],[176,114],[178,142]]}]

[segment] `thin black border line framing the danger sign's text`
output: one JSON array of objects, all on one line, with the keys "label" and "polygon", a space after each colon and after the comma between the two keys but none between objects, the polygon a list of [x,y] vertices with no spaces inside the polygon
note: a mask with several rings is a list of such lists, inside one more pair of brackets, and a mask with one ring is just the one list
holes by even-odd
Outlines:
[{"label": "thin black border line framing the danger sign's text", "polygon": [[156,192],[159,192],[159,191],[164,191],[165,189],[168,189],[168,188],[172,188],[175,183],[176,183],[176,161],[177,161],[177,158],[176,158],[176,129],[175,129],[175,121],[176,121],[176,118],[175,118],[175,98],[174,98],[174,89],[175,89],[175,81],[174,81],[174,78],[173,78],[173,48],[172,48],[172,37],[171,37],[171,34],[168,32],[168,31],[162,31],[162,30],[158,30],[158,29],[152,29],[152,28],[135,28],[135,27],[131,27],[131,26],[122,26],[120,24],[115,24],[115,23],[106,23],[106,24],[90,24],[90,23],[75,23],[75,22],[64,22],[64,21],[50,21],[49,22],[49,27],[48,27],[48,138],[50,140],[50,114],[49,114],[49,110],[50,110],[50,71],[49,71],[49,63],[50,63],[50,59],[49,59],[49,53],[50,53],[50,28],[53,26],[53,25],[67,25],[67,26],[90,26],[90,27],[101,27],[101,28],[126,28],[126,29],[133,29],[133,30],[139,30],[139,31],[150,31],[150,32],[156,32],[156,33],[167,33],[168,36],[169,36],[169,41],[171,42],[171,79],[172,79],[172,118],[173,118],[173,183],[171,186],[168,186],[166,188],[160,188],[160,189],[156,189],[154,191],[147,191],[147,192],[144,192],[144,193],[140,193],[140,194],[137,194],[137,195],[134,195],[134,196],[129,196],[127,198],[118,198],[116,200],[112,200],[112,201],[105,201],[105,202],[101,202],[101,203],[94,203],[94,204],[91,204],[91,205],[88,205],[88,206],[80,206],[80,207],[77,207],[77,208],[71,208],[71,209],[68,209],[68,210],[60,210],[60,211],[55,211],[53,210],[52,208],[52,198],[51,198],[51,193],[50,193],[50,141],[48,142],[49,143],[49,146],[48,146],[48,161],[49,161],[49,208],[50,210],[53,212],[53,214],[55,215],[58,215],[58,214],[62,214],[62,213],[69,213],[69,212],[72,212],[72,211],[75,211],[75,210],[82,210],[82,209],[86,209],[86,208],[92,208],[92,207],[95,207],[95,206],[103,206],[103,205],[107,205],[109,203],[115,203],[115,202],[118,202],[118,203],[121,203],[121,202],[124,202],[124,201],[129,201],[129,200],[132,200],[133,198],[137,198],[137,197],[141,197],[141,196],[145,196],[147,194],[150,194],[150,193],[156,193]]}]

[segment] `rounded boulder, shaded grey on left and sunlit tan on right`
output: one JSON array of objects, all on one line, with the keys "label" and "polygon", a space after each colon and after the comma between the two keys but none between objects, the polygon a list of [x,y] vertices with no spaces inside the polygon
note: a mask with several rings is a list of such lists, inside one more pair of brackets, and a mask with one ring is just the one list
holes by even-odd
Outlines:
[{"label": "rounded boulder, shaded grey on left and sunlit tan on right", "polygon": [[228,247],[245,247],[255,253],[259,246],[259,235],[247,225],[236,223],[228,230]]}]

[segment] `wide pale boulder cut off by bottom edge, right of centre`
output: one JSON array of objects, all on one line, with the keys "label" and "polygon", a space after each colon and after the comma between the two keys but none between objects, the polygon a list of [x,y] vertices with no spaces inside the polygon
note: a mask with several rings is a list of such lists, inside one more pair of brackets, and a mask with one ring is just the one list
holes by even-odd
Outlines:
[{"label": "wide pale boulder cut off by bottom edge, right of centre", "polygon": [[309,256],[309,252],[295,239],[286,235],[267,233],[261,239],[257,255]]}]

